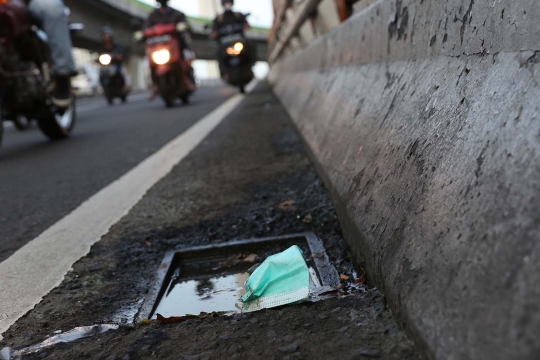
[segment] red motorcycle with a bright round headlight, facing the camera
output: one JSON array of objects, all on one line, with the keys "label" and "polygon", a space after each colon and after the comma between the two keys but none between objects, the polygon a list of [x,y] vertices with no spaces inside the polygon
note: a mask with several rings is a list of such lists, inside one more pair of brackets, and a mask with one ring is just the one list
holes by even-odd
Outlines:
[{"label": "red motorcycle with a bright round headlight, facing the camera", "polygon": [[193,93],[186,81],[193,76],[191,59],[185,59],[184,49],[178,41],[179,33],[186,30],[184,23],[159,24],[135,33],[135,40],[146,40],[146,55],[152,75],[167,107],[173,107],[178,98],[184,104],[189,103]]}]

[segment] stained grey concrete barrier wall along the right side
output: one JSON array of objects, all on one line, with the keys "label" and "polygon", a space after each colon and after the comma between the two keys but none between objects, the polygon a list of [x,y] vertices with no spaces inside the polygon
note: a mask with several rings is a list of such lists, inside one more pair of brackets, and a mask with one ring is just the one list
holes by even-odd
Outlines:
[{"label": "stained grey concrete barrier wall along the right side", "polygon": [[540,2],[380,0],[273,66],[347,241],[438,359],[540,359]]}]

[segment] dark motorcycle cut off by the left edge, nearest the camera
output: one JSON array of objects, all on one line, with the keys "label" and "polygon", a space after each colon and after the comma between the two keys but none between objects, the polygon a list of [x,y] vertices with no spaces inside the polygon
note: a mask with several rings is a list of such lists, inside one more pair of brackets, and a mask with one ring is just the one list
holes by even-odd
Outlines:
[{"label": "dark motorcycle cut off by the left edge, nearest the camera", "polygon": [[[70,25],[72,31],[81,29],[81,24]],[[24,117],[36,119],[51,140],[70,136],[76,120],[75,101],[67,109],[52,104],[51,69],[47,35],[33,24],[26,3],[0,1],[0,125],[3,120],[17,124]]]}]

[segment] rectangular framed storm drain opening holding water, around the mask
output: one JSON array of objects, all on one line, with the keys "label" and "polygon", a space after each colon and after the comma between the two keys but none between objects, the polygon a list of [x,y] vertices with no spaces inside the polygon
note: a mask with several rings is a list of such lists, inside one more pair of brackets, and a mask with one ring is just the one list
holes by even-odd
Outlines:
[{"label": "rectangular framed storm drain opening holding water, around the mask", "polygon": [[303,251],[310,288],[340,284],[337,270],[313,233],[192,247],[165,255],[136,320],[156,319],[157,314],[167,318],[238,310],[249,270],[294,245]]}]

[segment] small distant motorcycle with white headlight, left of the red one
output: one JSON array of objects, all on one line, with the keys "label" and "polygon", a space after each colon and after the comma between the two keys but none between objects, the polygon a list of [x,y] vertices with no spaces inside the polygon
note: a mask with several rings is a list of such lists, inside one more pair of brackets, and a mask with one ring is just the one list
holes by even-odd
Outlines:
[{"label": "small distant motorcycle with white headlight, left of the red one", "polygon": [[118,65],[113,62],[113,54],[101,54],[98,62],[101,65],[99,81],[109,105],[113,104],[115,98],[120,98],[123,103],[127,102],[129,90]]}]

